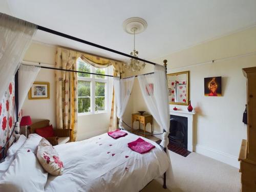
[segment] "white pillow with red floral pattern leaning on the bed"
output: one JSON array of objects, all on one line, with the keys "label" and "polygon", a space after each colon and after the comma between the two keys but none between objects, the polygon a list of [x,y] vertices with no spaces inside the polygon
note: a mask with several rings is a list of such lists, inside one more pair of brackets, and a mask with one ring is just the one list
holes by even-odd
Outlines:
[{"label": "white pillow with red floral pattern leaning on the bed", "polygon": [[53,176],[59,176],[63,173],[63,163],[60,161],[55,148],[42,138],[37,147],[37,159],[44,169]]}]

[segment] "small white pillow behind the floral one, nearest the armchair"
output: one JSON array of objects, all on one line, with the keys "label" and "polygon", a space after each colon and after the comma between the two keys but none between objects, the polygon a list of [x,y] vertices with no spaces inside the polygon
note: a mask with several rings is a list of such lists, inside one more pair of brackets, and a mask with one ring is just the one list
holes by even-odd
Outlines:
[{"label": "small white pillow behind the floral one, nearest the armchair", "polygon": [[36,154],[37,145],[41,139],[42,137],[37,134],[29,134],[29,138],[25,141],[24,145],[19,150],[24,152],[31,151]]}]

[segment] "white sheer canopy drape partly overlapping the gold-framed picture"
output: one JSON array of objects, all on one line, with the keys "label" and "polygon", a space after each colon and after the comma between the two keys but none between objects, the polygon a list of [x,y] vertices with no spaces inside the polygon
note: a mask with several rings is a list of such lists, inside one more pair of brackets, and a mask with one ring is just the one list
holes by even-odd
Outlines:
[{"label": "white sheer canopy drape partly overlapping the gold-framed picture", "polygon": [[18,112],[22,109],[29,89],[39,71],[40,67],[20,65],[18,72]]}]

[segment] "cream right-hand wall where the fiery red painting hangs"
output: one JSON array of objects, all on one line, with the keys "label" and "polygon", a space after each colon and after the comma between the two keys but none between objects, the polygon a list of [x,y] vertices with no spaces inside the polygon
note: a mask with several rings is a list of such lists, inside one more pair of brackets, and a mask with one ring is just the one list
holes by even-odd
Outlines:
[{"label": "cream right-hand wall where the fiery red painting hangs", "polygon": [[[239,167],[237,159],[241,141],[247,137],[246,126],[242,123],[246,103],[246,79],[242,68],[256,66],[255,52],[256,27],[155,60],[162,63],[163,59],[167,59],[168,73],[190,71],[190,99],[197,111],[194,116],[194,151],[236,167]],[[243,54],[248,55],[215,61],[214,64],[209,62],[205,65],[191,66]],[[143,73],[151,71],[153,66],[147,65]],[[212,76],[222,76],[222,97],[204,96],[204,78]],[[133,109],[130,113],[148,111],[137,79],[132,101]],[[182,105],[171,105],[170,108],[173,109],[174,106],[180,110],[187,110],[187,106]],[[155,131],[160,132],[157,123],[154,124]]]}]

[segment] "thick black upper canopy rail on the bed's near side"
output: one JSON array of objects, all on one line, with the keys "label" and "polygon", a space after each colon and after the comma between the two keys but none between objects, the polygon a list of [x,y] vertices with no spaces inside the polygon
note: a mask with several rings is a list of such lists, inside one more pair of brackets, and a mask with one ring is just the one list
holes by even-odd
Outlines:
[{"label": "thick black upper canopy rail on the bed's near side", "polygon": [[107,48],[107,47],[104,47],[104,46],[100,46],[98,44],[94,44],[93,42],[89,42],[87,40],[83,40],[83,39],[80,39],[80,38],[77,38],[77,37],[74,37],[74,36],[71,36],[71,35],[68,35],[68,34],[65,34],[65,33],[61,33],[61,32],[46,28],[46,27],[42,27],[42,26],[37,25],[37,29],[41,30],[41,31],[48,32],[48,33],[52,33],[54,35],[58,35],[58,36],[61,36],[61,37],[72,39],[72,40],[75,40],[75,41],[78,41],[78,42],[82,42],[83,44],[87,44],[87,45],[90,45],[90,46],[93,46],[93,47],[97,47],[99,49],[103,49],[103,50],[110,51],[110,52],[113,52],[113,53],[116,53],[116,54],[119,54],[119,55],[130,57],[130,58],[133,58],[133,59],[136,59],[136,60],[140,60],[140,61],[149,63],[149,64],[154,65],[154,66],[157,64],[155,62],[148,61],[148,60],[145,60],[145,59],[141,59],[139,57],[135,57],[135,56],[132,56],[132,55],[129,55],[129,54],[126,54],[126,53],[122,53],[120,51],[116,51],[114,49],[110,49],[110,48]]}]

